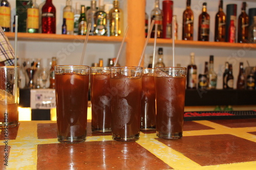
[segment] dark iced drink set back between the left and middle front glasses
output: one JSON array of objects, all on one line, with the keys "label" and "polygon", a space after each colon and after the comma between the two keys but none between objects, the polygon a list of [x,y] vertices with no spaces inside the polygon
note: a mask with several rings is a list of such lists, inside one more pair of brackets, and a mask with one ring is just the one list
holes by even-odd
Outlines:
[{"label": "dark iced drink set back between the left and middle front glasses", "polygon": [[92,131],[111,133],[110,67],[91,67]]}]

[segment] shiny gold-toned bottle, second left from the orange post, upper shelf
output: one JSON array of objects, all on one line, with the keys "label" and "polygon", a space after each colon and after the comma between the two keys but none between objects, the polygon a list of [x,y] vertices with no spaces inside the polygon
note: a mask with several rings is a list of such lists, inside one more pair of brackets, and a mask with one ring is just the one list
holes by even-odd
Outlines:
[{"label": "shiny gold-toned bottle, second left from the orange post, upper shelf", "polygon": [[103,0],[99,0],[99,11],[94,14],[94,35],[106,35],[106,13],[104,12]]}]

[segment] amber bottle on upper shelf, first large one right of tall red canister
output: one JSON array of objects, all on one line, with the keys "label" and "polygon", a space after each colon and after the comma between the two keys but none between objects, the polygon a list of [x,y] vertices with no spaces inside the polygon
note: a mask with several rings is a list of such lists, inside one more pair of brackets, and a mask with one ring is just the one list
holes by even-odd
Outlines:
[{"label": "amber bottle on upper shelf, first large one right of tall red canister", "polygon": [[194,14],[190,8],[190,0],[187,0],[187,7],[183,12],[182,39],[193,40],[194,35]]}]

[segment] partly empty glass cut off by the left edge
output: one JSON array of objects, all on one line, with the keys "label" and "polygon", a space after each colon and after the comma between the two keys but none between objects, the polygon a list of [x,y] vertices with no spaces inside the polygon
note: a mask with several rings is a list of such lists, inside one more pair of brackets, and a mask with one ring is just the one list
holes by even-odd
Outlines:
[{"label": "partly empty glass cut off by the left edge", "polygon": [[19,66],[0,67],[0,129],[18,126]]}]

